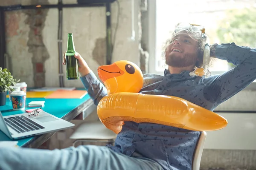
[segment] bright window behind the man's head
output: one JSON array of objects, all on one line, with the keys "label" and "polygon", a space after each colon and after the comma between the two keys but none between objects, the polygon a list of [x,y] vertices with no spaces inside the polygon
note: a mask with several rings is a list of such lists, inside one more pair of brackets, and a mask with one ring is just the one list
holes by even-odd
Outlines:
[{"label": "bright window behind the man's head", "polygon": [[[255,0],[149,0],[149,73],[163,75],[163,43],[180,22],[203,25],[209,43],[230,43],[256,47]],[[155,55],[154,55],[155,54]],[[214,59],[210,71],[222,73],[234,67]]]}]

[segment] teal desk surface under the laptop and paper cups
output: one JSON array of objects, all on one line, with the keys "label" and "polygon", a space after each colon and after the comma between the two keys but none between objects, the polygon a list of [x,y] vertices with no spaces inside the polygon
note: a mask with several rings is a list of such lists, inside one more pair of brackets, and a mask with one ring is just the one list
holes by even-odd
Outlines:
[{"label": "teal desk surface under the laptop and paper cups", "polygon": [[[78,116],[84,109],[94,105],[90,96],[86,94],[81,99],[45,99],[45,98],[26,98],[26,109],[32,109],[28,107],[28,103],[31,101],[45,101],[43,110],[64,120],[70,121]],[[6,98],[6,105],[0,106],[0,111],[3,116],[9,116],[13,114],[25,113],[26,111],[13,111],[12,103],[9,98]],[[46,133],[34,137],[19,139],[18,146],[20,147],[33,147],[37,148],[49,139],[54,133]],[[12,141],[6,134],[0,130],[0,141]]]}]

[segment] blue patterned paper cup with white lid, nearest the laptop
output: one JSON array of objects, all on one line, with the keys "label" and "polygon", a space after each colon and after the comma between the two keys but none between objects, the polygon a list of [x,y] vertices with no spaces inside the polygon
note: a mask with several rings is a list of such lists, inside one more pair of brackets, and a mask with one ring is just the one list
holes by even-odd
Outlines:
[{"label": "blue patterned paper cup with white lid, nearest the laptop", "polygon": [[14,91],[11,93],[11,97],[14,111],[25,110],[26,93],[24,91]]}]

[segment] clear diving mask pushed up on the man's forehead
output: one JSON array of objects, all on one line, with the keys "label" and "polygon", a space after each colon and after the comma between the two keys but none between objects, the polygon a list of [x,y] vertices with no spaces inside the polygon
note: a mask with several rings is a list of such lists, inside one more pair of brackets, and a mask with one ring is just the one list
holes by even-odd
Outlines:
[{"label": "clear diving mask pushed up on the man's forehead", "polygon": [[175,26],[174,33],[177,34],[179,31],[186,30],[188,34],[195,39],[206,38],[204,26],[190,24],[190,23],[178,23]]}]

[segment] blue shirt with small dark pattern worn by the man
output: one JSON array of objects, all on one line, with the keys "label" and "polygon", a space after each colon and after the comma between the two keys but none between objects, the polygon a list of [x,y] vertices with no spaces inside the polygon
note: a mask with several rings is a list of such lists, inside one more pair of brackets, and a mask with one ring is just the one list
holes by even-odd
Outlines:
[{"label": "blue shirt with small dark pattern worn by the man", "polygon": [[[145,74],[140,93],[177,96],[213,111],[256,79],[256,49],[235,43],[220,44],[215,56],[237,65],[209,78],[191,77],[189,71],[164,76]],[[97,105],[107,95],[104,85],[91,72],[81,77],[88,94]],[[135,153],[157,161],[164,170],[191,170],[201,132],[152,123],[125,122],[112,150],[127,156]]]}]

